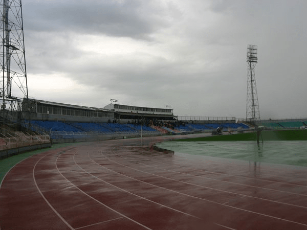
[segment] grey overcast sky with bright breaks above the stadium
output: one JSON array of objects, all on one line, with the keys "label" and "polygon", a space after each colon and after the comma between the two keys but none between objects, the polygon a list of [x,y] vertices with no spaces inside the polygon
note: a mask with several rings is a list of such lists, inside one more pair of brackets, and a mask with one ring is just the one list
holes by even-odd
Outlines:
[{"label": "grey overcast sky with bright breaks above the stadium", "polygon": [[23,0],[29,96],[246,116],[248,44],[261,118],[307,117],[305,0]]}]

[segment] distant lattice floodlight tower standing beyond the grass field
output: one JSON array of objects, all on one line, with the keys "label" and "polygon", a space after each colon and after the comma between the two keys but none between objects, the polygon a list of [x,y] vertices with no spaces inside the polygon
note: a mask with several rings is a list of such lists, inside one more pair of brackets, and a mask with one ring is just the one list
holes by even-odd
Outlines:
[{"label": "distant lattice floodlight tower standing beyond the grass field", "polygon": [[258,62],[257,45],[247,46],[247,98],[246,98],[246,121],[251,124],[260,122],[257,87],[255,79],[255,66]]}]

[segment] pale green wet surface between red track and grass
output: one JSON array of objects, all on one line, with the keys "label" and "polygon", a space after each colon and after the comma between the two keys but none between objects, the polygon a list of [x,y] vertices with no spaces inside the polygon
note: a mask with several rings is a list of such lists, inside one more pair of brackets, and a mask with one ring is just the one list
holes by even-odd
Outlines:
[{"label": "pale green wet surface between red track and grass", "polygon": [[[174,155],[193,158],[216,157],[243,160],[247,164],[262,162],[307,167],[306,141],[193,141],[162,142],[157,147],[174,151]],[[190,155],[190,156],[189,156]],[[244,164],[244,163],[242,163]]]}]

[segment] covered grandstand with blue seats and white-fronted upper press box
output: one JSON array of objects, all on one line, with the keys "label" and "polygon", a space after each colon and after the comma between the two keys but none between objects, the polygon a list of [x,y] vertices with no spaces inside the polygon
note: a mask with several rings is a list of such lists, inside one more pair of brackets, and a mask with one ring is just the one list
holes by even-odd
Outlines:
[{"label": "covered grandstand with blue seats and white-fronted upper press box", "polygon": [[[131,109],[128,115],[127,109]],[[26,98],[23,100],[22,111],[25,128],[38,133],[47,132],[52,139],[80,139],[111,134],[139,135],[140,132],[156,135],[160,131],[149,126],[150,119],[155,122],[174,119],[172,109],[117,104],[95,108]]]}]

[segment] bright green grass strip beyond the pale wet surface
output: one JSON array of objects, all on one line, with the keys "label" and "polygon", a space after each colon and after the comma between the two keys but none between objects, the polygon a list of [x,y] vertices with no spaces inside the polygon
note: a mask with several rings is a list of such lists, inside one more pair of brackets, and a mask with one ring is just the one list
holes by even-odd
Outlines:
[{"label": "bright green grass strip beyond the pale wet surface", "polygon": [[[262,131],[264,141],[307,141],[307,130],[291,129],[291,130],[264,130]],[[238,133],[231,135],[216,135],[195,137],[189,139],[179,139],[177,142],[193,142],[193,141],[256,141],[257,134],[255,132]],[[261,141],[261,137],[260,137]]]}]

